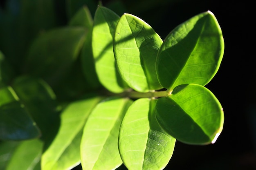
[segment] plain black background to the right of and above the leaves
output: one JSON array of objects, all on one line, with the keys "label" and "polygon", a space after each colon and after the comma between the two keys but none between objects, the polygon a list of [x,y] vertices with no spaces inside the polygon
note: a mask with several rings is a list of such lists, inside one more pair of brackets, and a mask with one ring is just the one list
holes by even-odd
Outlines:
[{"label": "plain black background to the right of and above the leaves", "polygon": [[[63,2],[55,0],[60,25],[67,22]],[[93,15],[98,1],[84,2]],[[5,1],[1,0],[0,5],[4,4]],[[224,128],[215,144],[192,146],[177,141],[173,157],[165,169],[256,170],[254,1],[102,0],[102,4],[119,15],[131,13],[138,16],[152,26],[162,39],[175,26],[194,15],[207,10],[213,12],[222,28],[225,53],[218,73],[206,87],[222,104]]]}]

